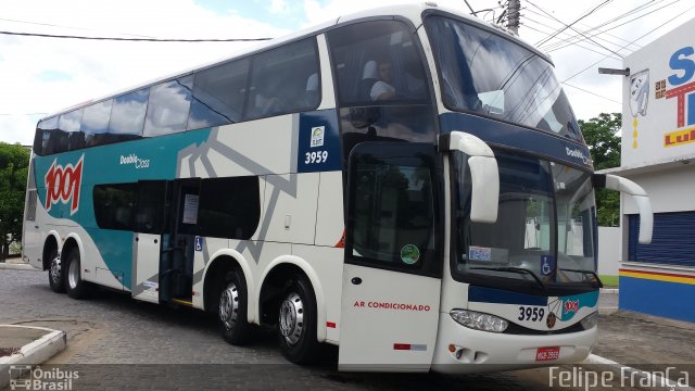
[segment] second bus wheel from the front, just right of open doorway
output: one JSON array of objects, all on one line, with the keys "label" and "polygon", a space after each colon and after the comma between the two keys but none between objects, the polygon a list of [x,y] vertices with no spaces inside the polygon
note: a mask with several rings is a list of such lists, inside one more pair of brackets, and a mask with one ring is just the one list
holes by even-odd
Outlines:
[{"label": "second bus wheel from the front, just right of open doorway", "polygon": [[247,320],[247,281],[237,270],[229,272],[219,293],[217,314],[222,337],[231,344],[244,344],[251,338],[253,327]]}]

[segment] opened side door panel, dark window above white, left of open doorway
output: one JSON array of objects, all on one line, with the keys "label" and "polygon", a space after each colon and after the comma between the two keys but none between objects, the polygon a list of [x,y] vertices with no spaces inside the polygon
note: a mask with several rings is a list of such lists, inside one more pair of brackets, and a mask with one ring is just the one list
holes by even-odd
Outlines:
[{"label": "opened side door panel, dark window above white, left of open doorway", "polygon": [[135,216],[132,297],[160,302],[160,255],[166,225],[167,182],[141,180]]}]

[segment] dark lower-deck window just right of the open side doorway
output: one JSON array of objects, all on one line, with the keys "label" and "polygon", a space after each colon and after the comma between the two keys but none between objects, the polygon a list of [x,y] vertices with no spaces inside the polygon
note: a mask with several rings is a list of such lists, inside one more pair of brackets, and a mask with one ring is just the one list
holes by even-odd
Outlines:
[{"label": "dark lower-deck window just right of the open side doorway", "polygon": [[198,235],[250,239],[261,219],[258,177],[201,181]]}]

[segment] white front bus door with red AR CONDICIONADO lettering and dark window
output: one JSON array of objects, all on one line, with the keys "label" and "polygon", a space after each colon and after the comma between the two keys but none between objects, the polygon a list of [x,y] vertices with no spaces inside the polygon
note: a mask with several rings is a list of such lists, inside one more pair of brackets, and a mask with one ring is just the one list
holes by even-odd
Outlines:
[{"label": "white front bus door with red AR CONDICIONADO lettering and dark window", "polygon": [[442,275],[434,146],[364,142],[350,156],[340,370],[427,371]]}]

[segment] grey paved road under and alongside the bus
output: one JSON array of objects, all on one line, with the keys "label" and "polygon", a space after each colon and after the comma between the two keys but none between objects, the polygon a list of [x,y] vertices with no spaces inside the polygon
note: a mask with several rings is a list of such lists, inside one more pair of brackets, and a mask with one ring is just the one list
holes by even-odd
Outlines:
[{"label": "grey paved road under and alongside the bus", "polygon": [[338,373],[334,349],[327,350],[323,365],[301,367],[282,357],[269,329],[260,330],[249,346],[232,346],[202,312],[111,291],[76,301],[53,293],[45,272],[0,269],[0,324],[65,331],[68,348],[41,367],[78,371],[73,390],[584,389],[551,388],[547,368],[471,376]]}]

